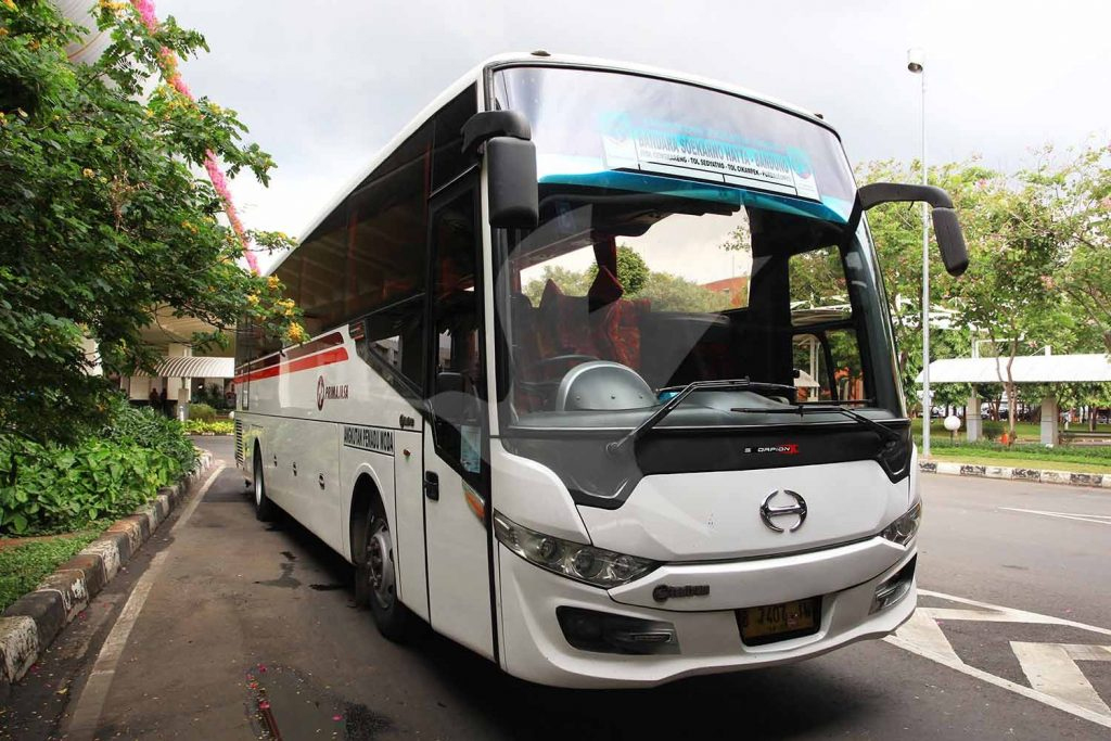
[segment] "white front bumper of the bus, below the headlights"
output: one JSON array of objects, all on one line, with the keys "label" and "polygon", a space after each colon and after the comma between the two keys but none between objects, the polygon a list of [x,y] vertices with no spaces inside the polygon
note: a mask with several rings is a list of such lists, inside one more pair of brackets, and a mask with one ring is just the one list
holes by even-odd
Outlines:
[{"label": "white front bumper of the bus, below the headlights", "polygon": [[[835,569],[841,549],[810,554],[821,565]],[[791,663],[827,653],[864,639],[882,638],[910,619],[918,601],[917,582],[899,601],[872,611],[877,589],[899,574],[914,559],[917,548],[881,573],[855,585],[821,597],[818,631],[761,645],[741,640],[738,610],[769,604],[759,593],[731,609],[693,611],[689,607],[660,609],[622,604],[603,589],[582,584],[544,571],[498,545],[500,573],[500,642],[502,668],[514,677],[568,688],[652,687],[683,677],[754,669]],[[778,559],[768,559],[774,569]],[[700,570],[720,563],[682,567],[689,583],[699,581]],[[818,562],[815,561],[815,567]],[[752,577],[751,562],[738,562],[740,591]],[[913,568],[913,565],[910,565]],[[755,587],[755,584],[753,584]],[[753,591],[762,591],[757,588]],[[677,647],[668,653],[630,654],[573,648],[557,618],[557,610],[571,608],[670,624]]]}]

